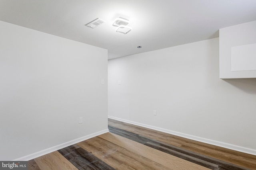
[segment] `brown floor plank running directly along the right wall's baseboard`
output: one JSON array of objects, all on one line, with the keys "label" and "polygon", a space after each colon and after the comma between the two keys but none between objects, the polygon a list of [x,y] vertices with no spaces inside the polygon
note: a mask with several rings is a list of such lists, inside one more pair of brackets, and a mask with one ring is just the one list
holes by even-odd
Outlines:
[{"label": "brown floor plank running directly along the right wall's baseboard", "polygon": [[[175,135],[155,131],[152,129],[147,129],[145,127],[139,127],[129,123],[124,123],[121,121],[116,121],[114,119],[108,119],[109,125],[137,133],[139,135],[144,135],[145,137],[150,137],[158,141],[168,143],[183,149],[190,150],[192,152],[197,152],[199,154],[204,154],[212,158],[220,159],[231,164],[236,164],[251,170],[256,170],[256,156],[251,154],[246,154],[238,152],[235,150],[225,149],[222,147],[201,143],[198,141],[186,139],[183,137],[178,137]],[[164,139],[165,138],[165,139]],[[164,139],[164,140],[163,140]]]}]

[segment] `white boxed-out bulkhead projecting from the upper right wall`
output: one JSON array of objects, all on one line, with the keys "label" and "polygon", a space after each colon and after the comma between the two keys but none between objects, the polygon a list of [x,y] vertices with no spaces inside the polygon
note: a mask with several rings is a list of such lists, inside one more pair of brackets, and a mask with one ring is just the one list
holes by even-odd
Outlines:
[{"label": "white boxed-out bulkhead projecting from the upper right wall", "polygon": [[256,78],[255,30],[256,21],[220,29],[220,78]]}]

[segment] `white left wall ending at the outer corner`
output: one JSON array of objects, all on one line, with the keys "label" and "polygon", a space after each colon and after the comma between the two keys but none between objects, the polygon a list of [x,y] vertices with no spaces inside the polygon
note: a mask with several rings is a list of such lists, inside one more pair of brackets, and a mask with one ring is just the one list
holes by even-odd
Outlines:
[{"label": "white left wall ending at the outer corner", "polygon": [[3,21],[0,37],[0,160],[108,130],[106,49]]}]

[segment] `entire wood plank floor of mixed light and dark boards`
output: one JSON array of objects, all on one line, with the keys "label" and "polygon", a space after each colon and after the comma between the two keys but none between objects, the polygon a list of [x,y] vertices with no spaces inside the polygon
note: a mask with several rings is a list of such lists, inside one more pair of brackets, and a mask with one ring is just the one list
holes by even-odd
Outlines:
[{"label": "entire wood plank floor of mixed light and dark boards", "polygon": [[[109,119],[108,123],[112,133],[105,133],[30,160],[28,169],[206,170],[210,168],[256,170],[256,156],[254,155],[192,141],[113,119]],[[176,149],[182,152],[181,156],[172,155],[177,154]],[[196,161],[197,164],[193,161]]]}]

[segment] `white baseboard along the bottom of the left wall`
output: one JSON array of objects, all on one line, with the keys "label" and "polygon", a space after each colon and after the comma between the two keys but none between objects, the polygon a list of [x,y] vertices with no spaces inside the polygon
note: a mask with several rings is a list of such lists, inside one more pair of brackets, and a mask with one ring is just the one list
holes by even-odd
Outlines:
[{"label": "white baseboard along the bottom of the left wall", "polygon": [[104,133],[107,133],[109,132],[108,129],[105,129],[105,130],[102,130],[102,131],[98,131],[96,133],[92,133],[90,135],[86,135],[84,137],[80,137],[80,138],[77,138],[77,139],[74,139],[72,141],[68,141],[68,142],[65,142],[65,143],[62,143],[60,145],[56,145],[54,147],[50,147],[48,149],[44,149],[44,150],[41,150],[41,151],[38,151],[38,152],[35,152],[35,153],[32,153],[32,154],[29,154],[29,155],[26,155],[26,156],[22,156],[20,158],[17,158],[17,159],[14,159],[13,161],[28,161],[28,160],[31,160],[31,159],[34,159],[34,158],[37,158],[39,156],[43,156],[45,154],[48,154],[48,153],[51,153],[51,152],[54,152],[56,150],[59,150],[59,149],[62,149],[62,148],[65,148],[65,147],[68,147],[70,145],[74,145],[76,143],[79,143],[79,142],[82,142],[82,141],[85,141],[87,139],[90,139],[92,137],[96,137],[98,135],[102,135]]}]

